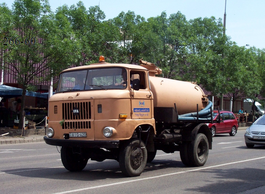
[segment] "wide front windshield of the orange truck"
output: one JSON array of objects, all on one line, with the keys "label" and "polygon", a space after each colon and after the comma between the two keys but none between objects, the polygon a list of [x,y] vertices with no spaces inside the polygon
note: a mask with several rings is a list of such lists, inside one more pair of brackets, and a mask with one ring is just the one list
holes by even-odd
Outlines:
[{"label": "wide front windshield of the orange truck", "polygon": [[123,68],[69,71],[60,74],[57,92],[97,89],[124,89],[127,72]]}]

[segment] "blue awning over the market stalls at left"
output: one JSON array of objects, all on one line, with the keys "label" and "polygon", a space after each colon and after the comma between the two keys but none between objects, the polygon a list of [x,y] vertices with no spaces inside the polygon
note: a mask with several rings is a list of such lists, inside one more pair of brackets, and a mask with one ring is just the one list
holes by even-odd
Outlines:
[{"label": "blue awning over the market stalls at left", "polygon": [[[2,98],[14,98],[22,96],[23,89],[15,88],[7,85],[0,85],[0,97]],[[39,98],[48,98],[47,94],[42,94],[38,92],[26,92],[26,96],[34,96]]]}]

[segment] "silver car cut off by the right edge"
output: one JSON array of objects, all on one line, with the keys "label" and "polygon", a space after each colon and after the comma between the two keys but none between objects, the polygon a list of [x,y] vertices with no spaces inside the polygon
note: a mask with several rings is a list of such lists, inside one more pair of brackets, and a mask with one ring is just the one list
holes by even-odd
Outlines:
[{"label": "silver car cut off by the right edge", "polygon": [[246,129],[245,143],[250,148],[254,145],[265,145],[265,115],[258,118]]}]

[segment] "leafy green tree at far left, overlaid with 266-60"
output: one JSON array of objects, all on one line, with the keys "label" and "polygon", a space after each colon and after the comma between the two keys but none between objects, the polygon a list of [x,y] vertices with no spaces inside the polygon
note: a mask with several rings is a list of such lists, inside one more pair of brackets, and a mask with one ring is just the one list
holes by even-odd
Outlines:
[{"label": "leafy green tree at far left, overlaid with 266-60", "polygon": [[[1,5],[1,9],[6,10],[6,7]],[[55,16],[47,0],[15,0],[9,19],[10,31],[5,34],[8,43],[1,44],[1,69],[9,72],[22,86],[21,129],[26,90],[33,91],[33,84],[49,82],[78,59],[67,18]]]}]

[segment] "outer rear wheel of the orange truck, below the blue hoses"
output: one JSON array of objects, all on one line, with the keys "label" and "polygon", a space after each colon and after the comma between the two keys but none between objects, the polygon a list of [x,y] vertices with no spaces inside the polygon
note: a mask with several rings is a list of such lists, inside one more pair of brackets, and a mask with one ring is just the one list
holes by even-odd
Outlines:
[{"label": "outer rear wheel of the orange truck, below the blue hoses", "polygon": [[192,166],[203,166],[209,154],[209,142],[205,134],[198,133],[189,145],[189,159]]}]

